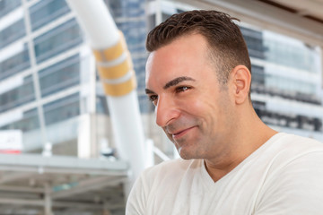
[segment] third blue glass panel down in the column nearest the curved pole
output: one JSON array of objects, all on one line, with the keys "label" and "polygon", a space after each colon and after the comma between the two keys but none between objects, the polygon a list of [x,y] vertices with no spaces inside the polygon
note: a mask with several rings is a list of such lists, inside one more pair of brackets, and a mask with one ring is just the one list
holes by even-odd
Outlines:
[{"label": "third blue glass panel down in the column nearest the curved pole", "polygon": [[39,82],[42,97],[80,83],[80,57],[71,56],[39,71]]}]

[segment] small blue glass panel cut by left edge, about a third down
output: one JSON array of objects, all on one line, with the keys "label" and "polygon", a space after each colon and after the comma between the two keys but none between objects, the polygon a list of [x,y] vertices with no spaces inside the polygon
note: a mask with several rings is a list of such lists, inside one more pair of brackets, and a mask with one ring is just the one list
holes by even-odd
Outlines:
[{"label": "small blue glass panel cut by left edge, about a third down", "polygon": [[30,68],[31,63],[29,59],[28,48],[25,46],[22,52],[0,62],[0,80]]}]

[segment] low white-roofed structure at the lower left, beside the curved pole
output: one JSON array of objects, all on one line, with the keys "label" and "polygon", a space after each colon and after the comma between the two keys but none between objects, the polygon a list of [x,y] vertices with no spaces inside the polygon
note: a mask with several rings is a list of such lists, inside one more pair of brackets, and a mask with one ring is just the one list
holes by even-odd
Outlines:
[{"label": "low white-roofed structure at the lower left, beside the curved pole", "polygon": [[124,210],[125,161],[37,154],[0,154],[0,161],[1,214]]}]

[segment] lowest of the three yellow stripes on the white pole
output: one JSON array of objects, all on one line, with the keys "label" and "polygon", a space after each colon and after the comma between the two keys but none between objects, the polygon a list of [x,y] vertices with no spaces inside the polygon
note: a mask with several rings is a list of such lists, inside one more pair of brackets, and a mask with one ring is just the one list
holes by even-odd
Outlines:
[{"label": "lowest of the three yellow stripes on the white pole", "polygon": [[131,92],[132,90],[135,90],[136,88],[136,82],[135,82],[135,75],[133,75],[129,80],[126,82],[121,82],[117,84],[111,84],[107,82],[103,83],[103,89],[106,95],[109,96],[124,96],[127,93]]}]

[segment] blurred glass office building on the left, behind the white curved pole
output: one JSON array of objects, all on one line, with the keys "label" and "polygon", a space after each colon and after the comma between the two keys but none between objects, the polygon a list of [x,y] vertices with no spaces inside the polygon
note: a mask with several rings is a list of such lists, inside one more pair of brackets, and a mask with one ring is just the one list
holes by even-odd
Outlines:
[{"label": "blurred glass office building on the left, behind the white curved pole", "polygon": [[[144,1],[105,2],[127,39],[146,113]],[[22,130],[24,151],[50,142],[54,154],[95,157],[113,142],[108,116],[92,51],[65,0],[0,1],[0,130]]]}]

